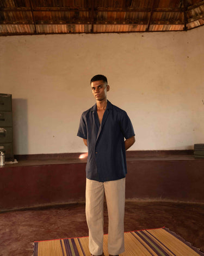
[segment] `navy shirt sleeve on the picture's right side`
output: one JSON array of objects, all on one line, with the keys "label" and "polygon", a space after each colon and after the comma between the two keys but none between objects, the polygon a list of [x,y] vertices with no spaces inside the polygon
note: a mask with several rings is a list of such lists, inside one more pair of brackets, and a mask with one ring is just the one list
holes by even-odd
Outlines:
[{"label": "navy shirt sleeve on the picture's right side", "polygon": [[123,111],[121,115],[120,127],[125,139],[129,139],[135,135],[131,120],[125,111]]}]

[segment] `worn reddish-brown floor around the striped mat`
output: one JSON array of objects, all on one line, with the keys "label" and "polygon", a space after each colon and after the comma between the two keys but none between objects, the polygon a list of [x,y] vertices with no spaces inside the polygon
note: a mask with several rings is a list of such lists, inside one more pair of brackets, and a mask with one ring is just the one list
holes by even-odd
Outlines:
[{"label": "worn reddish-brown floor around the striped mat", "polygon": [[[104,204],[105,234],[107,216]],[[204,204],[126,202],[125,231],[161,227],[169,228],[204,252]],[[88,236],[84,203],[0,214],[0,256],[31,256],[30,242],[77,236]]]}]

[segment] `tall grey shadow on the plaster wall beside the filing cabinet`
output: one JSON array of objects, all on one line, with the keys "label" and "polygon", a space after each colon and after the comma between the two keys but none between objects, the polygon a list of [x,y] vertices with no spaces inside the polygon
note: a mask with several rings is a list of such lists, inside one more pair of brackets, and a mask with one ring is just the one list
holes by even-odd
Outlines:
[{"label": "tall grey shadow on the plaster wall beside the filing cabinet", "polygon": [[28,154],[27,99],[12,99],[14,154]]}]

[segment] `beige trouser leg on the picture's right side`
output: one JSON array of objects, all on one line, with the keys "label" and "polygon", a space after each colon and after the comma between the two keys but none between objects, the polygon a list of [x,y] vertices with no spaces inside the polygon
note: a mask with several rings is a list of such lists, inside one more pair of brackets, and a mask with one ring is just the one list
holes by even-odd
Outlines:
[{"label": "beige trouser leg on the picture's right side", "polygon": [[125,178],[104,182],[104,190],[108,207],[108,252],[118,255],[125,251]]}]

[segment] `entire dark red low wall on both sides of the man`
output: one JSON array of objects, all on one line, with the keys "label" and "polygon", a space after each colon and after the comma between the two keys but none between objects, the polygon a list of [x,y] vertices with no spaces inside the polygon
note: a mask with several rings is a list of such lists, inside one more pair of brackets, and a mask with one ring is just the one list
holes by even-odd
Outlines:
[{"label": "entire dark red low wall on both sides of the man", "polygon": [[[85,200],[86,163],[0,168],[1,210]],[[204,159],[127,160],[127,199],[204,203]]]}]

